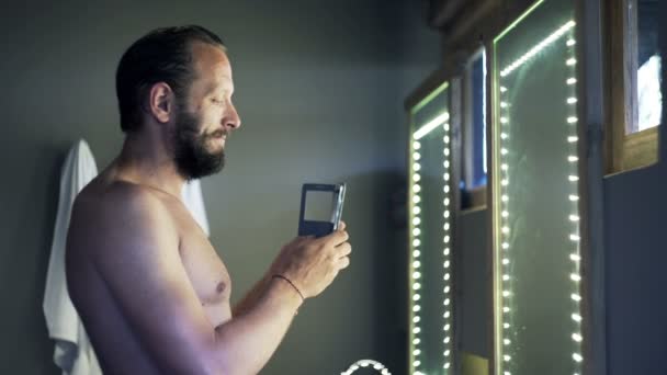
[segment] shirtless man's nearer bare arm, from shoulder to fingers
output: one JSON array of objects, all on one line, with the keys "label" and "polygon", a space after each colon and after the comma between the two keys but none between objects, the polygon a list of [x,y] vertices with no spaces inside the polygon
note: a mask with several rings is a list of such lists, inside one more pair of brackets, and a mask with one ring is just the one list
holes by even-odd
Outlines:
[{"label": "shirtless man's nearer bare arm, from shoulder to fingers", "polygon": [[[116,204],[110,204],[99,215],[100,223],[94,228],[88,224],[95,236],[88,246],[95,249],[95,266],[147,354],[161,372],[169,374],[258,373],[278,348],[301,305],[298,294],[289,283],[270,280],[251,309],[213,327],[182,266],[179,238],[162,203],[144,191],[120,195]],[[341,253],[335,251],[332,243],[346,240],[347,234],[339,232],[335,241],[312,243],[313,249],[307,252],[321,251],[338,259]],[[306,242],[298,243],[303,248]],[[339,269],[347,266],[319,259],[309,263],[330,269],[308,272],[326,273],[320,276],[321,285],[314,285],[310,295],[319,293]],[[297,275],[294,271],[301,268],[303,264],[284,270]],[[307,285],[313,281],[304,279],[301,283]]]}]

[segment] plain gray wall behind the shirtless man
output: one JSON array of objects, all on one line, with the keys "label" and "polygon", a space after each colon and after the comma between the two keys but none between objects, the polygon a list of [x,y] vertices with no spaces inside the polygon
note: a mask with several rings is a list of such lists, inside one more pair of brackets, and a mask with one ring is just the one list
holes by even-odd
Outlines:
[{"label": "plain gray wall behind the shirtless man", "polygon": [[362,357],[403,372],[405,229],[389,203],[405,181],[403,99],[439,59],[419,2],[26,1],[0,14],[0,373],[58,373],[42,297],[60,166],[78,138],[100,168],[115,157],[121,54],[185,23],[226,41],[244,120],[226,170],[203,182],[233,300],[295,235],[301,184],[349,183],[352,265],[302,308],[263,373],[335,374]]}]

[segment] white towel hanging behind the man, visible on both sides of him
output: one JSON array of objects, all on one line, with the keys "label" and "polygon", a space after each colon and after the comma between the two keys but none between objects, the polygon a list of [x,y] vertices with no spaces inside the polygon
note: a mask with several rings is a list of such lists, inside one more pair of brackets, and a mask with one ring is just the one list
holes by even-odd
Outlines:
[{"label": "white towel hanging behind the man, visible on both sides of him", "polygon": [[[54,362],[64,375],[101,375],[90,340],[75,309],[65,276],[65,242],[75,197],[98,174],[95,160],[86,140],[79,140],[68,152],[60,175],[60,196],[48,262],[44,294],[44,316],[52,339],[56,341]],[[208,219],[201,183],[193,180],[183,185],[183,203],[206,236]]]}]

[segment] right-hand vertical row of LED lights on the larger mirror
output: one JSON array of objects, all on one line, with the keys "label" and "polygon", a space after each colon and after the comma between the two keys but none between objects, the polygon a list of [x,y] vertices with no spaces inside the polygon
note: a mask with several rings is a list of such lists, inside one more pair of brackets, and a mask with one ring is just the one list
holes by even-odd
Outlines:
[{"label": "right-hand vertical row of LED lights on the larger mirror", "polygon": [[567,162],[569,164],[569,195],[575,197],[574,200],[569,200],[572,214],[568,217],[568,221],[572,225],[572,234],[569,235],[569,239],[572,241],[572,253],[568,254],[568,258],[573,261],[573,271],[569,280],[573,282],[573,292],[570,294],[570,299],[573,304],[573,344],[574,350],[572,353],[572,360],[574,361],[574,374],[581,374],[584,355],[581,351],[581,342],[584,340],[581,333],[581,273],[579,261],[581,259],[580,255],[580,232],[579,232],[579,205],[578,205],[578,194],[579,194],[579,179],[578,179],[578,143],[579,138],[577,136],[577,69],[576,69],[576,41],[574,37],[574,32],[570,31],[569,37],[565,42],[567,48],[567,58],[565,60],[565,65],[568,70],[568,78],[566,83],[566,88],[568,90],[568,96],[566,99],[567,103],[567,117],[565,118],[564,126],[567,126],[569,129],[567,135],[567,145],[569,147],[569,155],[567,156]]}]

